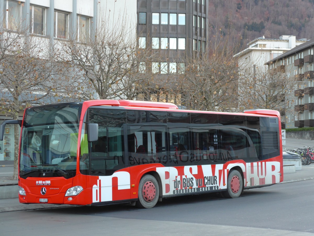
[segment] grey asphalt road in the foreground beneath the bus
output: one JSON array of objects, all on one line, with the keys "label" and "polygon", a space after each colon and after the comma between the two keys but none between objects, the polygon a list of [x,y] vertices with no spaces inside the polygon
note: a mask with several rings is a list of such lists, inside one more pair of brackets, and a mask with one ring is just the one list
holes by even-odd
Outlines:
[{"label": "grey asphalt road in the foreground beneath the bus", "polygon": [[1,235],[313,235],[314,179],[165,199],[151,209],[110,205],[0,213]]}]

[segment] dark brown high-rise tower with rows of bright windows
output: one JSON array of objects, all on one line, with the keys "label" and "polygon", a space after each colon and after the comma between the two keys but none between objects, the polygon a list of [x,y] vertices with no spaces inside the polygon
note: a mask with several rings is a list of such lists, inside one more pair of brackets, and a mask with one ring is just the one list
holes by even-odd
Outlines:
[{"label": "dark brown high-rise tower with rows of bright windows", "polygon": [[[137,0],[138,47],[154,55],[141,62],[139,71],[154,74],[156,83],[184,73],[187,58],[206,50],[207,8],[208,0]],[[169,96],[156,99],[180,105],[173,94]]]}]

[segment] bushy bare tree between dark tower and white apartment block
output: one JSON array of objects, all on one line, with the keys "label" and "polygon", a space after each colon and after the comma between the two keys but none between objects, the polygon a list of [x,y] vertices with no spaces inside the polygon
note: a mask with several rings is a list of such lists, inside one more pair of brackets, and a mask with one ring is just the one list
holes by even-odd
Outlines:
[{"label": "bushy bare tree between dark tower and white apartment block", "polygon": [[235,110],[237,75],[236,61],[223,53],[189,60],[180,83],[182,102],[195,110]]}]

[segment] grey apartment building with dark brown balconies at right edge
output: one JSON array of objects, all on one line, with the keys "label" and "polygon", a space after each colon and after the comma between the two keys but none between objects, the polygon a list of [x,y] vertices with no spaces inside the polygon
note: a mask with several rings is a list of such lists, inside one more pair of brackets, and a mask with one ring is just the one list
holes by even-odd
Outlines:
[{"label": "grey apartment building with dark brown balconies at right edge", "polygon": [[283,101],[283,106],[290,110],[282,117],[286,128],[314,126],[313,50],[312,39],[266,63],[269,70],[281,70],[295,78],[294,93],[286,94],[289,102]]}]

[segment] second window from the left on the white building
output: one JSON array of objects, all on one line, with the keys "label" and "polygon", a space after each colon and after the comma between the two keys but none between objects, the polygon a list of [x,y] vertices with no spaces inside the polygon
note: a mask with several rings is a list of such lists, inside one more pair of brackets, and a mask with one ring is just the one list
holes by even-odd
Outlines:
[{"label": "second window from the left on the white building", "polygon": [[30,5],[30,33],[46,35],[46,8]]}]

